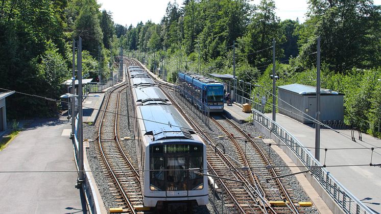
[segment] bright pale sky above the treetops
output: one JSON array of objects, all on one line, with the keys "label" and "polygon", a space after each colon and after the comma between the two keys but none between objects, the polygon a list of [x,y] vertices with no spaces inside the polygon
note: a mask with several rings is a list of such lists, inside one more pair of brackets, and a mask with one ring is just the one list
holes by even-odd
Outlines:
[{"label": "bright pale sky above the treetops", "polygon": [[[136,26],[140,21],[146,23],[148,20],[159,23],[164,16],[168,2],[175,0],[97,0],[102,4],[101,10],[111,11],[115,23],[123,26]],[[181,3],[182,0],[177,0]],[[260,0],[252,0],[250,4],[258,4]],[[381,0],[374,0],[375,5],[381,5]],[[281,19],[299,18],[299,22],[305,21],[307,12],[307,0],[275,0],[276,15]],[[141,8],[141,9],[138,9]]]}]

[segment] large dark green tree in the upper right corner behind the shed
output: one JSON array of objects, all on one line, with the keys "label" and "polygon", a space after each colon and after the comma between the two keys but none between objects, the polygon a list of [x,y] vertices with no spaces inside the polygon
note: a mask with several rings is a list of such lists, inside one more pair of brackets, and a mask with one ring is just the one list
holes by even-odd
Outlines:
[{"label": "large dark green tree in the upper right corner behind the shed", "polygon": [[[302,54],[316,50],[316,37],[320,36],[321,59],[336,72],[380,65],[379,6],[370,0],[311,0],[308,4],[308,26],[304,28],[306,32],[301,32]],[[314,59],[315,56],[308,56],[307,64]]]}]

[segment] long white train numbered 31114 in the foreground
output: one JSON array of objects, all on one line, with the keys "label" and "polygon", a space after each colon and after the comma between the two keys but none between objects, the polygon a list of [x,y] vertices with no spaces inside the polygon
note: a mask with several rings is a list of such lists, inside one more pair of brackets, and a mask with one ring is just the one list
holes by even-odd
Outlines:
[{"label": "long white train numbered 31114 in the foreground", "polygon": [[207,172],[206,147],[164,93],[147,79],[130,79],[144,206],[206,205],[207,177],[200,174]]}]

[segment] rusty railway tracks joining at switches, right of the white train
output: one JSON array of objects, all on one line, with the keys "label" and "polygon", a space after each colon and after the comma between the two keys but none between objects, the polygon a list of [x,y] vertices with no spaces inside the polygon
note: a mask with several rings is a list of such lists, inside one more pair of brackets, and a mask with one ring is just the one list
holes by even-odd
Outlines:
[{"label": "rusty railway tracks joining at switches, right of the white train", "polygon": [[[136,62],[136,64],[138,64]],[[226,137],[235,147],[238,160],[232,161],[232,158],[225,155],[217,148],[219,145],[216,135],[210,132],[204,132],[192,118],[189,118],[180,105],[168,92],[172,87],[157,82],[166,96],[184,115],[192,127],[201,133],[207,148],[208,171],[214,176],[224,179],[216,179],[223,187],[223,195],[226,204],[223,205],[233,212],[240,213],[299,213],[298,207],[294,205],[287,189],[282,185],[280,179],[266,179],[277,176],[275,169],[271,167],[270,161],[266,158],[263,151],[255,144],[254,140],[242,131],[226,117],[222,120],[212,121],[225,132]],[[244,148],[244,149],[243,149]],[[225,199],[226,197],[226,199]],[[209,199],[210,201],[210,199]],[[273,207],[270,201],[288,201],[287,206]],[[216,212],[219,212],[215,209]]]}]

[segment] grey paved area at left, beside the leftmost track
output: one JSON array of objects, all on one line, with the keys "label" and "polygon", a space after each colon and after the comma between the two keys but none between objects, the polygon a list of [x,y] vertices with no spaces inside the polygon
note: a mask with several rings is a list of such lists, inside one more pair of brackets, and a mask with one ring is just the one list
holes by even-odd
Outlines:
[{"label": "grey paved area at left, beside the leftmost track", "polygon": [[[65,117],[36,120],[0,151],[2,213],[83,213]],[[38,171],[38,172],[30,172]],[[42,173],[46,172],[46,173]]]}]

